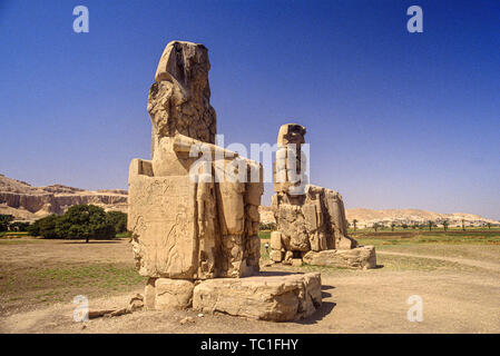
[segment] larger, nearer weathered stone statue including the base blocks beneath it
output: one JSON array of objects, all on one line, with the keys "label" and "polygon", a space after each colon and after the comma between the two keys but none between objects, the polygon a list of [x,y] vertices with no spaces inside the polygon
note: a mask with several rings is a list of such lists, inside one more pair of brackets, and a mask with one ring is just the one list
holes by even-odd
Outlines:
[{"label": "larger, nearer weathered stone statue including the base blocks beneath it", "polygon": [[307,316],[321,305],[318,274],[220,278],[259,271],[263,171],[215,145],[209,68],[203,44],[169,42],[149,90],[151,160],[131,161],[128,196],[136,266],[149,277],[145,305],[269,320]]}]

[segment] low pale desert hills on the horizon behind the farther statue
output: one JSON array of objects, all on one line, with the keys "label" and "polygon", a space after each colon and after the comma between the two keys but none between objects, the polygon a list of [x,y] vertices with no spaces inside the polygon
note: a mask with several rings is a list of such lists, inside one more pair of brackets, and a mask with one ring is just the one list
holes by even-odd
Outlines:
[{"label": "low pale desert hills on the horizon behind the farther statue", "polygon": [[[261,221],[274,222],[273,211],[271,207],[261,206]],[[465,226],[481,226],[483,224],[500,225],[500,221],[483,218],[479,215],[454,212],[454,214],[440,214],[421,209],[385,209],[385,210],[372,210],[372,209],[346,209],[345,215],[349,222],[354,219],[357,220],[356,226],[360,228],[372,227],[374,222],[384,224],[390,226],[392,222],[396,225],[402,224],[427,224],[429,220],[439,224],[440,221],[448,220],[449,226],[461,226],[462,219]]]}]

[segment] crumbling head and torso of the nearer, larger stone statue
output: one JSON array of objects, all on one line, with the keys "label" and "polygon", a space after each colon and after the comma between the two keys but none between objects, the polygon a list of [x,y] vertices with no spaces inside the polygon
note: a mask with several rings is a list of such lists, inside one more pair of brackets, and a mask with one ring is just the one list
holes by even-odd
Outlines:
[{"label": "crumbling head and torso of the nearer, larger stone statue", "polygon": [[208,50],[203,44],[171,41],[165,48],[148,97],[153,157],[163,137],[177,134],[215,144],[209,69]]}]

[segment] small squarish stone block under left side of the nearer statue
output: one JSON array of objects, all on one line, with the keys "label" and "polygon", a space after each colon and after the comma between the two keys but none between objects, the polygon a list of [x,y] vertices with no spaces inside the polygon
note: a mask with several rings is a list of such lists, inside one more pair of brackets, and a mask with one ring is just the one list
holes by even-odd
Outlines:
[{"label": "small squarish stone block under left side of the nearer statue", "polygon": [[186,309],[193,304],[193,289],[190,280],[158,278],[155,283],[156,310]]}]

